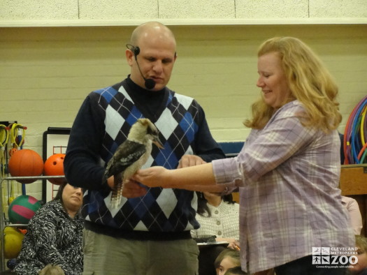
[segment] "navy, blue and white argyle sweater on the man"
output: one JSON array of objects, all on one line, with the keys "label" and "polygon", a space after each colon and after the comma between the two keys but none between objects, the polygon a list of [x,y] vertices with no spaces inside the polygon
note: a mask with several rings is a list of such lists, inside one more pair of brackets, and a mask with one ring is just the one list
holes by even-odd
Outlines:
[{"label": "navy, blue and white argyle sweater on the man", "polygon": [[[83,103],[73,124],[64,167],[69,182],[88,189],[82,207],[87,228],[102,233],[107,230],[110,232],[106,233],[108,235],[118,235],[117,230],[183,232],[199,228],[195,220],[197,198],[192,191],[147,188],[143,197],[122,197],[117,209],[110,208],[110,188],[101,182],[103,166],[127,139],[131,125],[139,118],[152,120],[159,130],[159,140],[164,144],[164,149],[153,146],[143,168],[154,165],[177,168],[184,154],[197,154],[205,161],[224,158],[210,135],[202,108],[193,98],[165,88],[154,92],[159,103],[157,98],[150,98],[152,102],[147,103],[144,98],[137,97],[137,93],[141,96],[147,90],[129,78],[112,87],[94,91]],[[155,112],[152,112],[152,106]],[[93,139],[96,145],[88,146],[88,142],[93,142],[92,137],[98,142]],[[89,140],[82,142],[83,138]],[[85,156],[80,158],[82,154]],[[96,163],[100,163],[99,168],[96,168]]]}]

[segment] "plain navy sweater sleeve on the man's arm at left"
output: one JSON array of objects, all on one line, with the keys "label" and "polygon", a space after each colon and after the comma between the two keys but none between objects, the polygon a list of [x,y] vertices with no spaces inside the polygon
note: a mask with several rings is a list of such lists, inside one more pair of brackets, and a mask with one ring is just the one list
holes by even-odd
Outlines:
[{"label": "plain navy sweater sleeve on the man's arm at left", "polygon": [[97,96],[91,93],[82,103],[71,128],[64,159],[68,182],[73,186],[94,190],[108,188],[102,182],[104,168],[100,164],[105,114],[97,105]]}]

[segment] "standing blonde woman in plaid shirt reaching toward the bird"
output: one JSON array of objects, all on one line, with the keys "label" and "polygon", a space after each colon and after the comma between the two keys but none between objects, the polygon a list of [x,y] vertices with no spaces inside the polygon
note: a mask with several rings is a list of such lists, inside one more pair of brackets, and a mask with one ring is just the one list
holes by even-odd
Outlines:
[{"label": "standing blonde woman in plaid shirt reaching toward the bird", "polygon": [[227,193],[239,186],[244,271],[248,261],[250,273],[274,267],[277,275],[344,274],[342,267],[312,265],[312,248],[354,246],[338,188],[338,88],[297,38],[266,40],[257,67],[261,98],[245,121],[252,131],[238,156],[178,170],[140,170],[135,179],[171,188],[222,186]]}]

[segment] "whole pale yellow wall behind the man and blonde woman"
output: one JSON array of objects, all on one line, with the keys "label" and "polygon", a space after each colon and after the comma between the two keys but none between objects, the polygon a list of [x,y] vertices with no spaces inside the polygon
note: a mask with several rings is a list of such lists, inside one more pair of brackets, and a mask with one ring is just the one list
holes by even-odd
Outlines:
[{"label": "whole pale yellow wall behind the man and blonde woman", "polygon": [[[126,77],[131,31],[158,20],[178,40],[169,87],[201,103],[217,141],[249,133],[242,121],[259,96],[257,47],[272,36],[301,38],[322,57],[340,87],[343,132],[367,94],[366,19],[366,0],[2,0],[0,121],[27,126],[24,148],[42,154],[43,132],[71,127],[89,91]],[[41,186],[28,184],[27,194],[41,199]]]}]

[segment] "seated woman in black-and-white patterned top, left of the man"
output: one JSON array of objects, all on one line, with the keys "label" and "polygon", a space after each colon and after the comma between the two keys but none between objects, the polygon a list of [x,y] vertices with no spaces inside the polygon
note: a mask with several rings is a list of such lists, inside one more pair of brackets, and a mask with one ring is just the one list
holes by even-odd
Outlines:
[{"label": "seated woman in black-and-white patterned top, left of the man", "polygon": [[[22,275],[82,274],[82,189],[64,183],[54,200],[31,218],[17,257],[15,272]],[[55,266],[54,266],[55,265]],[[60,269],[62,269],[60,271]]]}]

